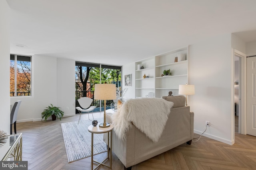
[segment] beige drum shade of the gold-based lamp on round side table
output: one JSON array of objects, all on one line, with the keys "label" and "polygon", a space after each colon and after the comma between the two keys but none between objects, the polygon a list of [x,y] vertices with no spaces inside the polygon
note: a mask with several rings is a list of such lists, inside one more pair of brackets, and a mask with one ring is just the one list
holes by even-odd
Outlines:
[{"label": "beige drum shade of the gold-based lamp on round side table", "polygon": [[96,100],[116,99],[116,84],[95,84],[94,99]]}]

